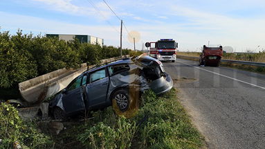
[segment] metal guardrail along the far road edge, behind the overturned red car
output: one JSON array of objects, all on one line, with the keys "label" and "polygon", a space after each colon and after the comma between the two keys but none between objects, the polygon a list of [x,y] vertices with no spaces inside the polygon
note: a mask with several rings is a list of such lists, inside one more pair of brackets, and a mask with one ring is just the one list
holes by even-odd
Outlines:
[{"label": "metal guardrail along the far road edge, behind the overturned red car", "polygon": [[[189,59],[189,60],[199,60],[198,57],[193,56],[184,56],[184,55],[176,55],[176,58],[182,58],[182,59]],[[250,65],[255,67],[265,67],[265,62],[249,62],[249,61],[242,61],[242,60],[221,60],[221,62],[228,62],[232,64],[244,64],[244,65]]]}]

